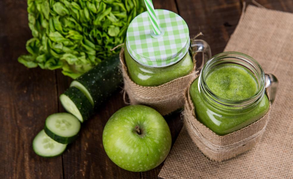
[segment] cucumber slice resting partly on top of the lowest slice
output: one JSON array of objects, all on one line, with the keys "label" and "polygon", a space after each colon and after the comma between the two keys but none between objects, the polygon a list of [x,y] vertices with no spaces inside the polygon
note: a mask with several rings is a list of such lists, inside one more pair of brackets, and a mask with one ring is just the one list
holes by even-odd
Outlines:
[{"label": "cucumber slice resting partly on top of the lowest slice", "polygon": [[54,141],[68,144],[77,137],[80,122],[72,114],[55,113],[47,117],[44,131]]}]

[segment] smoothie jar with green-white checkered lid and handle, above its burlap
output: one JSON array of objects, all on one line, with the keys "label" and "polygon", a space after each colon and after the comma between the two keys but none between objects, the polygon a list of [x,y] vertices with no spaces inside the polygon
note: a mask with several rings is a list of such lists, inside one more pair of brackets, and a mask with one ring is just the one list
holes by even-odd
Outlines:
[{"label": "smoothie jar with green-white checkered lid and handle, above its burlap", "polygon": [[147,12],[136,16],[127,28],[125,63],[131,80],[142,86],[159,86],[189,74],[194,68],[194,52],[204,52],[205,59],[211,57],[208,43],[189,38],[182,17],[162,9],[155,13],[159,35],[154,34]]}]

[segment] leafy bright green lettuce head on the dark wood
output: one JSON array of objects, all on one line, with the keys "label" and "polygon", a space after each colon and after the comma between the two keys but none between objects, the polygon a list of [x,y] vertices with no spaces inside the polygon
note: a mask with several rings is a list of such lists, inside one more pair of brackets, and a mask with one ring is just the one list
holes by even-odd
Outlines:
[{"label": "leafy bright green lettuce head on the dark wood", "polygon": [[136,15],[146,10],[141,0],[28,0],[33,38],[18,57],[28,68],[62,69],[73,79],[107,57],[125,40]]}]

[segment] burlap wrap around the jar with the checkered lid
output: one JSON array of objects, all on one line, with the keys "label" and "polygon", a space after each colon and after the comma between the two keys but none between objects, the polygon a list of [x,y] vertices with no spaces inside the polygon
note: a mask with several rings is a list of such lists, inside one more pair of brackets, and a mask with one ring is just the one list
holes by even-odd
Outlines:
[{"label": "burlap wrap around the jar with the checkered lid", "polygon": [[194,68],[184,77],[177,78],[160,86],[141,86],[134,83],[128,75],[124,62],[123,48],[120,52],[120,62],[124,80],[124,93],[127,93],[130,104],[147,105],[157,110],[163,116],[183,108],[184,91],[190,80],[198,74],[194,60]]}]

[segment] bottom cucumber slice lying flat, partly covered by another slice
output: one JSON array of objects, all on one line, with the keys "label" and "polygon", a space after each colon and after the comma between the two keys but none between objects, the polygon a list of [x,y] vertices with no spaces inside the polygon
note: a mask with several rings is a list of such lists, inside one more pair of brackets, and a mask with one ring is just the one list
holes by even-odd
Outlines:
[{"label": "bottom cucumber slice lying flat, partly covered by another slice", "polygon": [[32,141],[32,149],[42,157],[56,157],[66,149],[66,144],[60,144],[50,138],[44,130],[41,130]]}]

